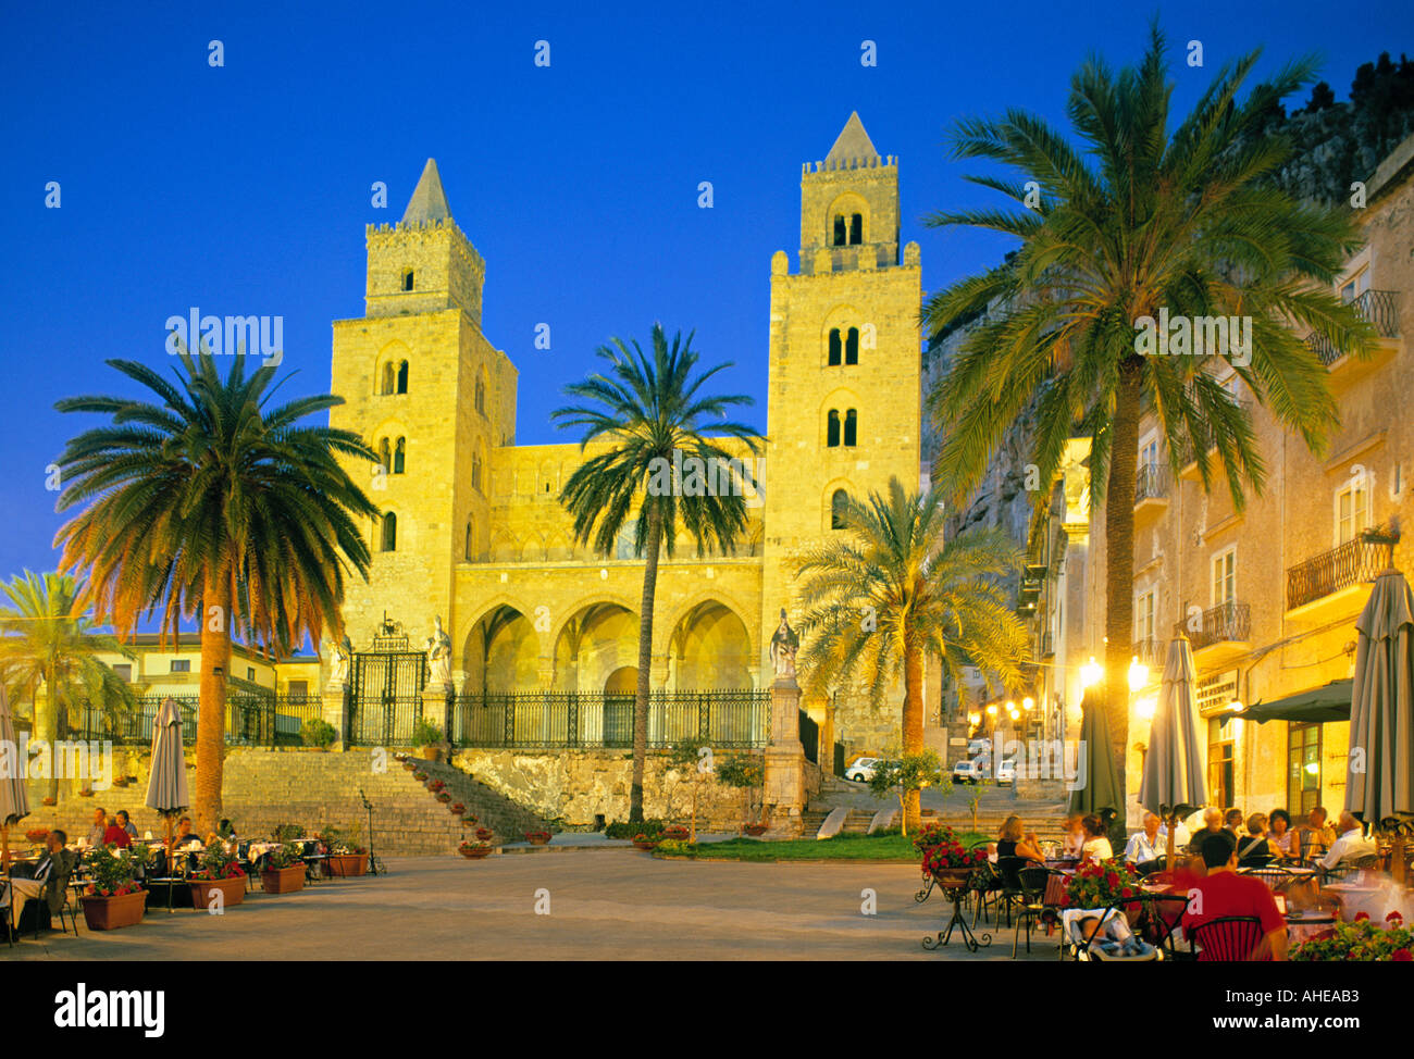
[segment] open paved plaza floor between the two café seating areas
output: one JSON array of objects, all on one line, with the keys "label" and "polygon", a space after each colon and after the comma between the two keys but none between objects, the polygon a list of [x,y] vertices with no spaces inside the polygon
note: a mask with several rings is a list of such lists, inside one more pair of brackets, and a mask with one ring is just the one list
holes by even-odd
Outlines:
[{"label": "open paved plaza floor between the two caf\u00e9 seating areas", "polygon": [[[904,864],[655,860],[632,848],[479,862],[400,858],[386,877],[253,892],[225,915],[151,911],[139,926],[48,933],[0,960],[1007,960],[1011,932],[967,953],[921,942],[946,906],[913,901]],[[861,913],[863,891],[877,913]],[[536,912],[537,902],[549,913]],[[1053,939],[1034,960],[1056,959]],[[1025,949],[1018,959],[1027,959]]]}]

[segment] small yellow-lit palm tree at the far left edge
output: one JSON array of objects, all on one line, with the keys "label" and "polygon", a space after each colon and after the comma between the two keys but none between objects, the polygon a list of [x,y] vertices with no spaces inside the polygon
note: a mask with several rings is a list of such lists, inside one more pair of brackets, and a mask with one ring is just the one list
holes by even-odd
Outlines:
[{"label": "small yellow-lit palm tree at the far left edge", "polygon": [[[13,697],[28,690],[35,706],[44,686],[44,710],[35,710],[34,724],[51,749],[68,734],[71,708],[98,707],[116,721],[137,704],[127,683],[95,657],[98,652],[132,657],[132,652],[116,636],[96,632],[79,612],[81,590],[72,577],[25,570],[0,591],[10,599],[0,608],[0,673]],[[47,797],[58,796],[58,769],[51,768]]]}]

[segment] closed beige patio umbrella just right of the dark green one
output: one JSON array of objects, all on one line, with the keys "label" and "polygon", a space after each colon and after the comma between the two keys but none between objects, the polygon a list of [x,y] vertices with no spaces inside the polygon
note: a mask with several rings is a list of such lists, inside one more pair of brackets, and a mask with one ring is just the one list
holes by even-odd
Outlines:
[{"label": "closed beige patio umbrella just right of the dark green one", "polygon": [[1174,864],[1174,833],[1182,810],[1196,809],[1208,800],[1208,785],[1203,782],[1205,748],[1198,741],[1196,679],[1198,669],[1188,636],[1174,638],[1164,660],[1158,707],[1150,727],[1144,779],[1140,783],[1140,805],[1168,824],[1168,867]]}]

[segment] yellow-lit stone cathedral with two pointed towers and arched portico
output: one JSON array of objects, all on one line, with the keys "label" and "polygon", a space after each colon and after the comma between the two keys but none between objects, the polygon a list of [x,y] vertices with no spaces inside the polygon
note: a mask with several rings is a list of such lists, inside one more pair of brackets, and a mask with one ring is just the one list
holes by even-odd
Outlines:
[{"label": "yellow-lit stone cathedral with two pointed towers and arched portico", "polygon": [[[331,424],[379,454],[372,570],[344,605],[354,696],[414,700],[424,642],[457,697],[632,694],[643,563],[631,536],[612,556],[573,539],[559,496],[594,445],[516,444],[519,373],[482,334],[485,262],[436,161],[402,221],[368,226],[366,245],[365,315],[334,322],[331,386],[345,399]],[[836,532],[846,496],[919,482],[919,249],[899,246],[898,160],[875,151],[858,115],[803,165],[799,256],[792,269],[772,254],[769,279],[761,495],[734,554],[697,556],[683,534],[660,564],[653,689],[765,689],[781,608],[797,609],[800,553]],[[414,665],[375,667],[379,650]],[[853,756],[887,745],[901,698],[875,713],[844,689],[803,706]]]}]

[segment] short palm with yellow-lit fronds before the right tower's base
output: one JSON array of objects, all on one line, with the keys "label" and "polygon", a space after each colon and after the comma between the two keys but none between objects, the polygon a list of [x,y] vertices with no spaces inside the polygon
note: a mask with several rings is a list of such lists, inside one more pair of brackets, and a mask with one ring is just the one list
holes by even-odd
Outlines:
[{"label": "short palm with yellow-lit fronds before the right tower's base", "polygon": [[[976,666],[1012,684],[1027,660],[1027,631],[998,578],[1017,570],[1021,551],[1004,533],[943,534],[936,489],[850,498],[839,537],[800,563],[800,669],[806,691],[827,693],[861,679],[875,706],[904,677],[904,755],[923,749],[923,660],[937,657],[954,680]],[[919,792],[908,793],[905,830],[919,824]]]}]

